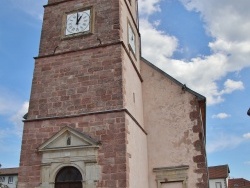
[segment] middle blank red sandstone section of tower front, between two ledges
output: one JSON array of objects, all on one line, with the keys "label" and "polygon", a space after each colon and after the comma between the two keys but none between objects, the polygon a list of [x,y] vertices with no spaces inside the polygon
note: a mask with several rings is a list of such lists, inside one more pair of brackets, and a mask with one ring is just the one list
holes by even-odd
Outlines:
[{"label": "middle blank red sandstone section of tower front, between two ledges", "polygon": [[121,46],[36,60],[28,118],[120,109]]}]

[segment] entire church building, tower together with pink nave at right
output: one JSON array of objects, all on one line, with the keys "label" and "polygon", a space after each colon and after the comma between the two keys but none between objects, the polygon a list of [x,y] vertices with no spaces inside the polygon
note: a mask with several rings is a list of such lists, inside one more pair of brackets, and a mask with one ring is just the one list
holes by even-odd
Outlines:
[{"label": "entire church building, tower together with pink nave at right", "polygon": [[44,8],[18,188],[207,188],[206,98],[141,57],[137,0]]}]

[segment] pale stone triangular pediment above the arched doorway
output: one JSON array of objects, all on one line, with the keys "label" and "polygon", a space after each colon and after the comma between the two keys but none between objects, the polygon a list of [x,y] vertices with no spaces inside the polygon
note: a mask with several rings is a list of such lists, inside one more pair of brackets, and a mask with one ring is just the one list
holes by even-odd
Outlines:
[{"label": "pale stone triangular pediment above the arched doorway", "polygon": [[89,135],[66,126],[44,142],[38,151],[98,147],[99,144],[99,141]]}]

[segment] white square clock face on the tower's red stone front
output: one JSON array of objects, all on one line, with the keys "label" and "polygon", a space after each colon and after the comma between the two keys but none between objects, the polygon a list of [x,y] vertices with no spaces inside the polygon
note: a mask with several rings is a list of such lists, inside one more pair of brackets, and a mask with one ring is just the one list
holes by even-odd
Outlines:
[{"label": "white square clock face on the tower's red stone front", "polygon": [[90,10],[68,14],[65,35],[89,32],[90,20]]}]

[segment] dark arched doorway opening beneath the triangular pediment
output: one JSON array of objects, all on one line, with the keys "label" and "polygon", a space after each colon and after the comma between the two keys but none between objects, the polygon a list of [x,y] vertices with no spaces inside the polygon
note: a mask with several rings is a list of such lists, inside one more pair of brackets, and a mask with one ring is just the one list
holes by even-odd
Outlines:
[{"label": "dark arched doorway opening beneath the triangular pediment", "polygon": [[82,188],[82,174],[72,166],[62,168],[56,175],[55,188]]}]

